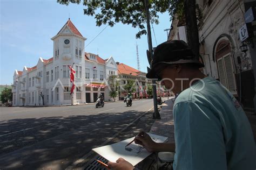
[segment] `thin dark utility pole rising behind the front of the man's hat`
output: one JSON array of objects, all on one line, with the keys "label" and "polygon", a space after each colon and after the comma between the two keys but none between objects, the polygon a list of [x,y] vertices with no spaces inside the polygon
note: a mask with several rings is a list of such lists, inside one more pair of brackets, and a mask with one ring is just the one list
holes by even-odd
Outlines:
[{"label": "thin dark utility pole rising behind the front of the man's hat", "polygon": [[[152,47],[152,38],[151,38],[151,30],[150,30],[150,17],[149,17],[149,5],[147,4],[148,0],[145,0],[145,12],[147,19],[147,44],[149,45],[149,55],[150,59],[153,59],[153,47]],[[156,88],[156,80],[152,80],[153,86],[153,101],[154,101],[154,112],[153,118],[159,119],[160,114],[157,108],[157,88]]]}]

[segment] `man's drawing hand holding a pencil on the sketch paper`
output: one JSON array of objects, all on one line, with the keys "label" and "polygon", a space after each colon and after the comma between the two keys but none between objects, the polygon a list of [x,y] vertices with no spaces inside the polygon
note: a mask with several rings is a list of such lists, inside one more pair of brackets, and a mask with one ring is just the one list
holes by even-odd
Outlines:
[{"label": "man's drawing hand holding a pencil on the sketch paper", "polygon": [[134,142],[142,145],[148,152],[156,152],[156,143],[151,139],[149,134],[145,132],[139,132],[138,136],[135,137]]}]

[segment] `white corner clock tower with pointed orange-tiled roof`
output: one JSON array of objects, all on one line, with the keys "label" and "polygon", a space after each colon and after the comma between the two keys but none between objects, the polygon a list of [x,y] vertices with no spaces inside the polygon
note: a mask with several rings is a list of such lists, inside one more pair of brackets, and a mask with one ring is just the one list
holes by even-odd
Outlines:
[{"label": "white corner clock tower with pointed orange-tiled roof", "polygon": [[[51,40],[53,40],[53,69],[55,72],[55,80],[61,82],[57,81],[59,83],[55,86],[58,88],[59,96],[64,96],[62,95],[63,90],[70,90],[69,65],[73,66],[73,69],[76,70],[76,87],[83,89],[83,73],[85,73],[84,42],[86,38],[82,36],[69,19]],[[63,87],[64,89],[62,89]],[[77,88],[75,89],[77,90]],[[84,97],[85,96],[82,96],[80,100],[84,100]],[[74,93],[74,98],[77,98],[76,93]],[[63,100],[66,100],[66,98],[63,98]],[[58,101],[63,100],[60,98]]]}]

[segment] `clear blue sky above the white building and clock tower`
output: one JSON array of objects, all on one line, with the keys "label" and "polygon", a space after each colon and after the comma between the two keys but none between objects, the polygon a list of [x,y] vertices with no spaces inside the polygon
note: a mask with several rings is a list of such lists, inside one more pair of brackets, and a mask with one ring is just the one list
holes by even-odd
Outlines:
[{"label": "clear blue sky above the white building and clock tower", "polygon": [[[49,59],[53,55],[53,41],[62,26],[70,17],[79,32],[87,38],[85,46],[102,31],[106,25],[96,26],[96,19],[83,14],[82,4],[60,5],[56,0],[1,0],[0,84],[11,84],[15,69],[24,66],[33,67],[39,57]],[[166,41],[164,29],[169,29],[171,22],[168,13],[159,13],[159,24],[153,25],[156,34],[153,46]],[[147,37],[136,39],[138,29],[131,25],[118,23],[107,27],[90,45],[86,52],[99,54],[103,59],[113,56],[115,61],[137,68],[136,42],[138,44],[140,70],[146,72]]]}]

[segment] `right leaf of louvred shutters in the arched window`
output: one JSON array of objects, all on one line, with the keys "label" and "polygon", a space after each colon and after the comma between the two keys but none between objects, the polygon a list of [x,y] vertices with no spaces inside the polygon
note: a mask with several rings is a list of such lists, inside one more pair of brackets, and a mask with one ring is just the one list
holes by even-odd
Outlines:
[{"label": "right leaf of louvred shutters in the arched window", "polygon": [[232,94],[236,94],[234,70],[231,55],[224,56],[224,65],[227,77],[227,87]]}]

